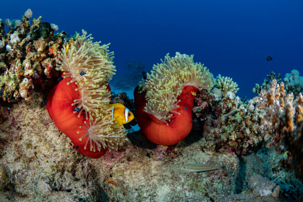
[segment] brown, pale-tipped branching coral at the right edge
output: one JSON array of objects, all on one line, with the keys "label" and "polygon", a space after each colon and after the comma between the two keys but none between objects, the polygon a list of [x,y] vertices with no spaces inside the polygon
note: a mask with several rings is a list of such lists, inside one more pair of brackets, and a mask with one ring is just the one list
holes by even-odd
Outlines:
[{"label": "brown, pale-tipped branching coral at the right edge", "polygon": [[270,138],[269,147],[278,154],[287,154],[281,163],[303,179],[303,96],[286,95],[283,82],[271,81],[268,91],[261,91],[263,108],[267,110],[263,128]]}]

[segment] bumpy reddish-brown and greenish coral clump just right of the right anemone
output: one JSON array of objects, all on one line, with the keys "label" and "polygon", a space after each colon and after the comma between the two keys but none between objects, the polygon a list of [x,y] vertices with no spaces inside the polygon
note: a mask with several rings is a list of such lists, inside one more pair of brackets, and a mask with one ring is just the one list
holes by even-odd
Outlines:
[{"label": "bumpy reddish-brown and greenish coral clump just right of the right anemone", "polygon": [[261,102],[257,97],[243,102],[232,91],[216,91],[198,91],[192,110],[194,129],[203,126],[204,149],[237,155],[252,151],[264,137]]}]

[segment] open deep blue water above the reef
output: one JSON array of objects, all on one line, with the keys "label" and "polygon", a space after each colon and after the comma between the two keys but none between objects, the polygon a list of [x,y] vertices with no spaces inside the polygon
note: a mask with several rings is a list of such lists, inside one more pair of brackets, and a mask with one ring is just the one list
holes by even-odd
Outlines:
[{"label": "open deep blue water above the reef", "polygon": [[[194,54],[217,76],[232,77],[237,95],[252,98],[255,83],[271,71],[303,76],[303,1],[3,1],[0,18],[33,17],[73,35],[85,29],[111,43],[119,79],[135,59],[147,69],[166,53]],[[30,18],[32,20],[32,18]],[[273,57],[266,61],[266,57]],[[129,78],[136,79],[136,78]],[[141,78],[140,78],[141,79]],[[138,81],[140,80],[138,79]]]}]

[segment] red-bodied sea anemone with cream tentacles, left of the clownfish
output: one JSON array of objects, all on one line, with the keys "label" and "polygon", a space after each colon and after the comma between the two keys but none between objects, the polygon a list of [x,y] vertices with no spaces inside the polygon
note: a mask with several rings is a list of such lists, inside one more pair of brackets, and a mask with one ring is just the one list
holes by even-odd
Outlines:
[{"label": "red-bodied sea anemone with cream tentacles, left of the clownfish", "polygon": [[[57,128],[82,155],[99,158],[122,145],[125,128],[112,117],[108,81],[115,71],[108,45],[92,42],[82,30],[62,48],[57,70],[62,78],[49,92],[46,107]],[[83,112],[83,113],[82,113]]]}]

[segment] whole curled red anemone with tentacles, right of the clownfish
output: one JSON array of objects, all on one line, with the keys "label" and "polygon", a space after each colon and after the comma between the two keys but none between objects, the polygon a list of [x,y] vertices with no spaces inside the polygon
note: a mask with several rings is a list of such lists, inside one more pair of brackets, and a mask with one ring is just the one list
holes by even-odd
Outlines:
[{"label": "whole curled red anemone with tentacles, right of the clownfish", "polygon": [[211,74],[193,55],[165,56],[135,89],[135,114],[142,132],[155,144],[171,145],[191,131],[193,99],[211,89]]}]

